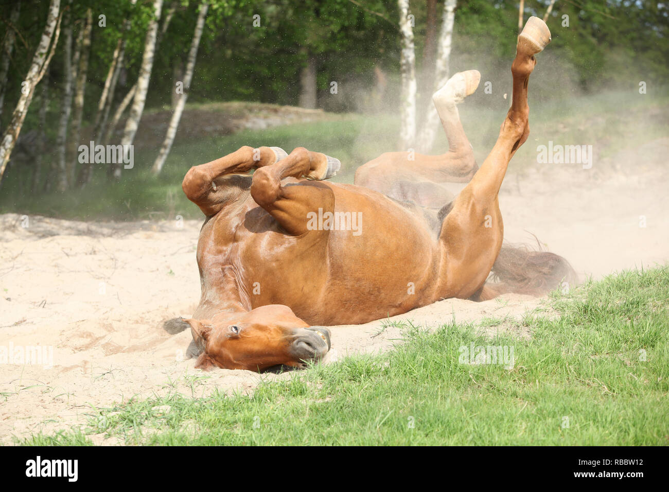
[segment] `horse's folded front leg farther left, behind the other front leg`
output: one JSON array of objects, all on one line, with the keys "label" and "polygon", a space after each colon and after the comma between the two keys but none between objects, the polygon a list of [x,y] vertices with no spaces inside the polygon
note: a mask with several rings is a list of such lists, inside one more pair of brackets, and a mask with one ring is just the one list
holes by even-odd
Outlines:
[{"label": "horse's folded front leg farther left, behind the other front leg", "polygon": [[248,173],[251,169],[272,165],[286,155],[279,147],[254,149],[247,145],[215,161],[191,167],[181,188],[205,216],[213,216],[233,193],[233,189],[225,185],[225,175]]}]

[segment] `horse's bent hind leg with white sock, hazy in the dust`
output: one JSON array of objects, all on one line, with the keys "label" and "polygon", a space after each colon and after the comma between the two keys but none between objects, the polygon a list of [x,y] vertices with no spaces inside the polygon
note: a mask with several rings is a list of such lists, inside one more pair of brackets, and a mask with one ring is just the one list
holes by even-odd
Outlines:
[{"label": "horse's bent hind leg with white sock, hazy in the dust", "polygon": [[478,70],[459,72],[432,96],[448,138],[447,153],[385,153],[357,169],[355,184],[421,206],[440,208],[448,203],[452,194],[440,184],[468,183],[478,169],[456,105],[474,93],[479,80]]}]

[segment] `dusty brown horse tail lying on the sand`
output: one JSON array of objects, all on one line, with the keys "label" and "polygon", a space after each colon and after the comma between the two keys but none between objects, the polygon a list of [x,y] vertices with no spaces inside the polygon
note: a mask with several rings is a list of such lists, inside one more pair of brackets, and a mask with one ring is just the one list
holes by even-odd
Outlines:
[{"label": "dusty brown horse tail lying on the sand", "polygon": [[504,244],[491,273],[479,295],[481,301],[505,293],[542,296],[565,282],[569,287],[578,283],[578,275],[565,258],[522,245]]}]

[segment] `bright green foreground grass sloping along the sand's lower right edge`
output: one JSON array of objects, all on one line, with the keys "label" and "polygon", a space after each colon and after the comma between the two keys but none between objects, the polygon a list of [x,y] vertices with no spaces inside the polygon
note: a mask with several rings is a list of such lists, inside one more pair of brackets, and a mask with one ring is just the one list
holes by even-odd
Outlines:
[{"label": "bright green foreground grass sloping along the sand's lower right edge", "polygon": [[[511,321],[531,329],[529,340],[484,339],[472,325],[407,327],[388,353],[316,365],[252,396],[133,400],[22,444],[100,433],[126,444],[668,444],[669,266],[549,303],[557,316]],[[460,363],[471,343],[514,347],[513,368]]]}]

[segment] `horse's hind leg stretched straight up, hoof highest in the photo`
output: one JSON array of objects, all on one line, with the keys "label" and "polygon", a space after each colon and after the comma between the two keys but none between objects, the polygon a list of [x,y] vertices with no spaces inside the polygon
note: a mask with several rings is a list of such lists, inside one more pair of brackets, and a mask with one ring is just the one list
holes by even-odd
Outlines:
[{"label": "horse's hind leg stretched straight up, hoof highest in the photo", "polygon": [[440,289],[448,297],[468,298],[479,291],[502,247],[504,225],[497,195],[510,159],[529,135],[529,76],[537,63],[534,55],[550,40],[547,25],[537,17],[530,17],[518,36],[516,58],[511,66],[511,108],[500,135],[444,218],[440,236],[444,269]]}]

